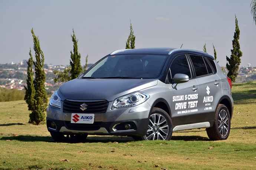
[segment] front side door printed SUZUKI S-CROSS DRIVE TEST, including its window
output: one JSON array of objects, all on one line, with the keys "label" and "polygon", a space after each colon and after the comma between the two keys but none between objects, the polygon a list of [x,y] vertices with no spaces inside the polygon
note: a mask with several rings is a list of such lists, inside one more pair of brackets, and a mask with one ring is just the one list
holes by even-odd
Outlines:
[{"label": "front side door printed SUZUKI S-CROSS DRIVE TEST, including its window", "polygon": [[171,93],[171,116],[173,125],[196,122],[198,112],[198,84],[193,73],[187,56],[178,55],[173,59],[168,73],[169,81],[173,81],[175,74],[186,74],[189,77],[188,82],[180,83],[174,89],[169,85]]}]

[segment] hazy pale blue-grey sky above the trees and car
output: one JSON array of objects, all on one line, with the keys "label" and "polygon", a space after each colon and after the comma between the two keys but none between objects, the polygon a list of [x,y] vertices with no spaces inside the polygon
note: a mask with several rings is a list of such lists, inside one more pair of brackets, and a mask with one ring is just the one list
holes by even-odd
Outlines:
[{"label": "hazy pale blue-grey sky above the trees and car", "polygon": [[[240,29],[240,66],[256,67],[256,25],[251,0],[0,0],[1,64],[29,58],[33,28],[45,64],[69,65],[72,29],[78,38],[81,64],[94,63],[125,48],[130,20],[135,48],[174,47],[203,50],[226,65],[235,31]],[[33,50],[32,50],[33,52]]]}]

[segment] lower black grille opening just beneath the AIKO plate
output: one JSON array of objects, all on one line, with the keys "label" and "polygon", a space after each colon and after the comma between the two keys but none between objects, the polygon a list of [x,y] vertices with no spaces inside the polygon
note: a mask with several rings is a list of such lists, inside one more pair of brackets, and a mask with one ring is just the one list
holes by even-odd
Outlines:
[{"label": "lower black grille opening just beneath the AIKO plate", "polygon": [[83,124],[83,123],[70,123],[70,121],[65,121],[66,127],[70,130],[99,130],[101,128],[102,122],[94,122],[93,124]]}]

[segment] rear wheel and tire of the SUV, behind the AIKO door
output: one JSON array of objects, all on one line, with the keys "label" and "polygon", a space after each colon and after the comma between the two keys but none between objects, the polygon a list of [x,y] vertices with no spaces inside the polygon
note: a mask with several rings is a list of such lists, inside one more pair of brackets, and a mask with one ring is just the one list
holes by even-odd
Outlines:
[{"label": "rear wheel and tire of the SUV, behind the AIKO door", "polygon": [[213,127],[206,129],[211,140],[226,140],[230,132],[230,114],[227,107],[219,104],[214,117]]}]

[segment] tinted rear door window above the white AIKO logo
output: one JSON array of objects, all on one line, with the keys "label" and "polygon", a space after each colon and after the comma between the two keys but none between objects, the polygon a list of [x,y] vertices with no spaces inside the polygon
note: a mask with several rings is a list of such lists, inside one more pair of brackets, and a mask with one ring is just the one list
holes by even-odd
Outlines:
[{"label": "tinted rear door window above the white AIKO logo", "polygon": [[196,76],[208,74],[203,57],[198,55],[190,55],[190,58],[194,66]]}]

